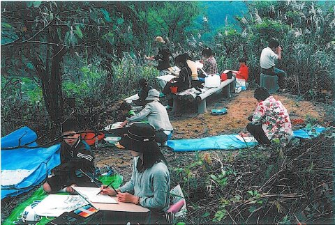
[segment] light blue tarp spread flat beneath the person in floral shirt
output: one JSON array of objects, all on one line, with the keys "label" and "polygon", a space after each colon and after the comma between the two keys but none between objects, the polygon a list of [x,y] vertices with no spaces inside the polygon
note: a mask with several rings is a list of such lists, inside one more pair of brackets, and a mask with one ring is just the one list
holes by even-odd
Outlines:
[{"label": "light blue tarp spread flat beneath the person in floral shirt", "polygon": [[[293,132],[293,137],[311,139],[317,137],[325,127],[316,127],[311,129],[300,129]],[[258,144],[258,142],[244,142],[237,137],[237,134],[218,135],[214,137],[204,137],[202,139],[178,139],[168,141],[168,146],[174,152],[188,152],[197,150],[232,150],[239,148],[248,148]]]}]

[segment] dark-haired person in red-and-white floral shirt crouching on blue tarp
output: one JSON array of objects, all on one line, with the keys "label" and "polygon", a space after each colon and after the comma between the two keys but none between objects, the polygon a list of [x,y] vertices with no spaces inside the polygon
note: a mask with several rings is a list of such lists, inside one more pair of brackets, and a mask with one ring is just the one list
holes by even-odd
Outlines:
[{"label": "dark-haired person in red-and-white floral shirt crouching on blue tarp", "polygon": [[260,144],[269,146],[271,143],[279,143],[286,146],[293,134],[288,110],[266,88],[257,88],[255,99],[258,105],[253,116],[249,116],[251,123],[248,123],[246,129]]}]

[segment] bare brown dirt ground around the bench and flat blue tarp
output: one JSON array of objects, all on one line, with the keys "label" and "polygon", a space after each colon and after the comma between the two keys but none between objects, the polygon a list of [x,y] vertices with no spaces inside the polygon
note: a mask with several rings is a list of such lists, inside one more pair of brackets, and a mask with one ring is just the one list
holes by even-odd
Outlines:
[{"label": "bare brown dirt ground around the bench and flat blue tarp", "polygon": [[[194,104],[186,104],[185,109],[179,114],[169,111],[170,121],[174,127],[172,139],[191,139],[218,134],[232,134],[244,129],[248,124],[247,117],[253,114],[257,101],[253,98],[254,89],[249,88],[241,93],[232,93],[232,98],[224,99],[220,94],[211,95],[207,100],[207,113],[196,114],[197,107]],[[281,100],[290,114],[290,119],[315,118],[323,123],[326,111],[321,103],[313,103],[301,100],[296,95],[289,93],[274,94],[274,98]],[[164,103],[164,102],[163,102]],[[210,110],[225,107],[228,114],[212,116]],[[294,129],[298,129],[295,127]],[[170,151],[170,152],[169,152]],[[96,166],[112,166],[118,173],[131,173],[132,157],[128,150],[118,148],[97,148]],[[164,149],[163,153],[169,154],[171,150]]]}]

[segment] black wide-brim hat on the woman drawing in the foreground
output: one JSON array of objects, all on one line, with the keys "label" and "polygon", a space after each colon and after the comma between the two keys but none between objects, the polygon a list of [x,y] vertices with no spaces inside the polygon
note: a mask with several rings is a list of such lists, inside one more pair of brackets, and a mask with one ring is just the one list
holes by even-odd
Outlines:
[{"label": "black wide-brim hat on the woman drawing in the foreground", "polygon": [[128,150],[137,153],[149,153],[159,150],[155,141],[155,129],[147,123],[133,123],[129,127],[126,136],[122,137],[119,143]]}]

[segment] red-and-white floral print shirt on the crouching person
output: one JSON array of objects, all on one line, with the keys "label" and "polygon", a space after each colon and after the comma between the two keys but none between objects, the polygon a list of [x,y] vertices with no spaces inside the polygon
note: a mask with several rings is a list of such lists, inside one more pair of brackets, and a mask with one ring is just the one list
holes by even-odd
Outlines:
[{"label": "red-and-white floral print shirt on the crouching person", "polygon": [[253,113],[253,125],[262,125],[267,138],[274,143],[286,146],[292,138],[292,125],[288,110],[281,101],[269,96],[259,102]]}]

